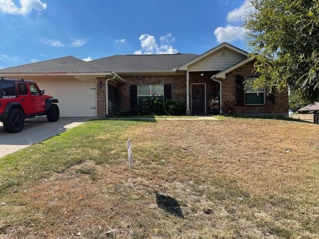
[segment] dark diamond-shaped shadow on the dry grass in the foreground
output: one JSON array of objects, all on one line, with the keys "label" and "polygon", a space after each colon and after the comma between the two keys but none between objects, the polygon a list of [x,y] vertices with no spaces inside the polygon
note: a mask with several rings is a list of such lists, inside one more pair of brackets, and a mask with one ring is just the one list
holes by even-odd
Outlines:
[{"label": "dark diamond-shaped shadow on the dry grass in the foreground", "polygon": [[156,202],[158,207],[176,217],[184,218],[179,203],[172,197],[165,196],[159,193],[156,194]]}]

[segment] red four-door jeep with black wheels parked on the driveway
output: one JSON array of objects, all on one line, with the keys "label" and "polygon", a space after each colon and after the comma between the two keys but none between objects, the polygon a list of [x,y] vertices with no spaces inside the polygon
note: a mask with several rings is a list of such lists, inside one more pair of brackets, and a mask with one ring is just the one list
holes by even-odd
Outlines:
[{"label": "red four-door jeep with black wheels parked on the driveway", "polygon": [[0,122],[5,131],[20,132],[24,119],[44,116],[57,121],[60,116],[57,99],[45,95],[33,81],[0,77]]}]

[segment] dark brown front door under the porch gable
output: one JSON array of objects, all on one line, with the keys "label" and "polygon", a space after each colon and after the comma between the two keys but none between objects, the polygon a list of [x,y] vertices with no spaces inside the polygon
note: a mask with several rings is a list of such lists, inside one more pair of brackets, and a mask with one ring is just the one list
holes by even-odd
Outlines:
[{"label": "dark brown front door under the porch gable", "polygon": [[205,114],[205,85],[191,85],[191,114]]}]

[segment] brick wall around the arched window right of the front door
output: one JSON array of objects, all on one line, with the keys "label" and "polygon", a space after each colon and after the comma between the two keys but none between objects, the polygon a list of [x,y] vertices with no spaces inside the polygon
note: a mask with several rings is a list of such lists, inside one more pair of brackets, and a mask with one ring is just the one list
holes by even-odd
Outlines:
[{"label": "brick wall around the arched window right of the front door", "polygon": [[[233,106],[231,111],[234,115],[282,115],[288,117],[288,92],[278,93],[275,92],[275,104],[273,105],[246,105],[236,106],[236,75],[243,77],[254,74],[253,62],[247,63],[246,65],[234,70],[233,72],[226,75],[226,79],[222,81],[222,107]],[[267,92],[266,92],[267,94]],[[225,110],[223,109],[223,113]]]}]

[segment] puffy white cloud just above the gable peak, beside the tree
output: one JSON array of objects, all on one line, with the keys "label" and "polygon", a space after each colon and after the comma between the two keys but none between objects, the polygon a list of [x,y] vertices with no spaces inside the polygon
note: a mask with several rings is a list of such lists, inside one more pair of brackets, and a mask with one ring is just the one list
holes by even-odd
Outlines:
[{"label": "puffy white cloud just above the gable peak, beside the tree", "polygon": [[231,25],[227,25],[226,27],[219,26],[214,31],[217,42],[232,42],[237,39],[242,40],[245,36],[245,33],[245,28]]}]

